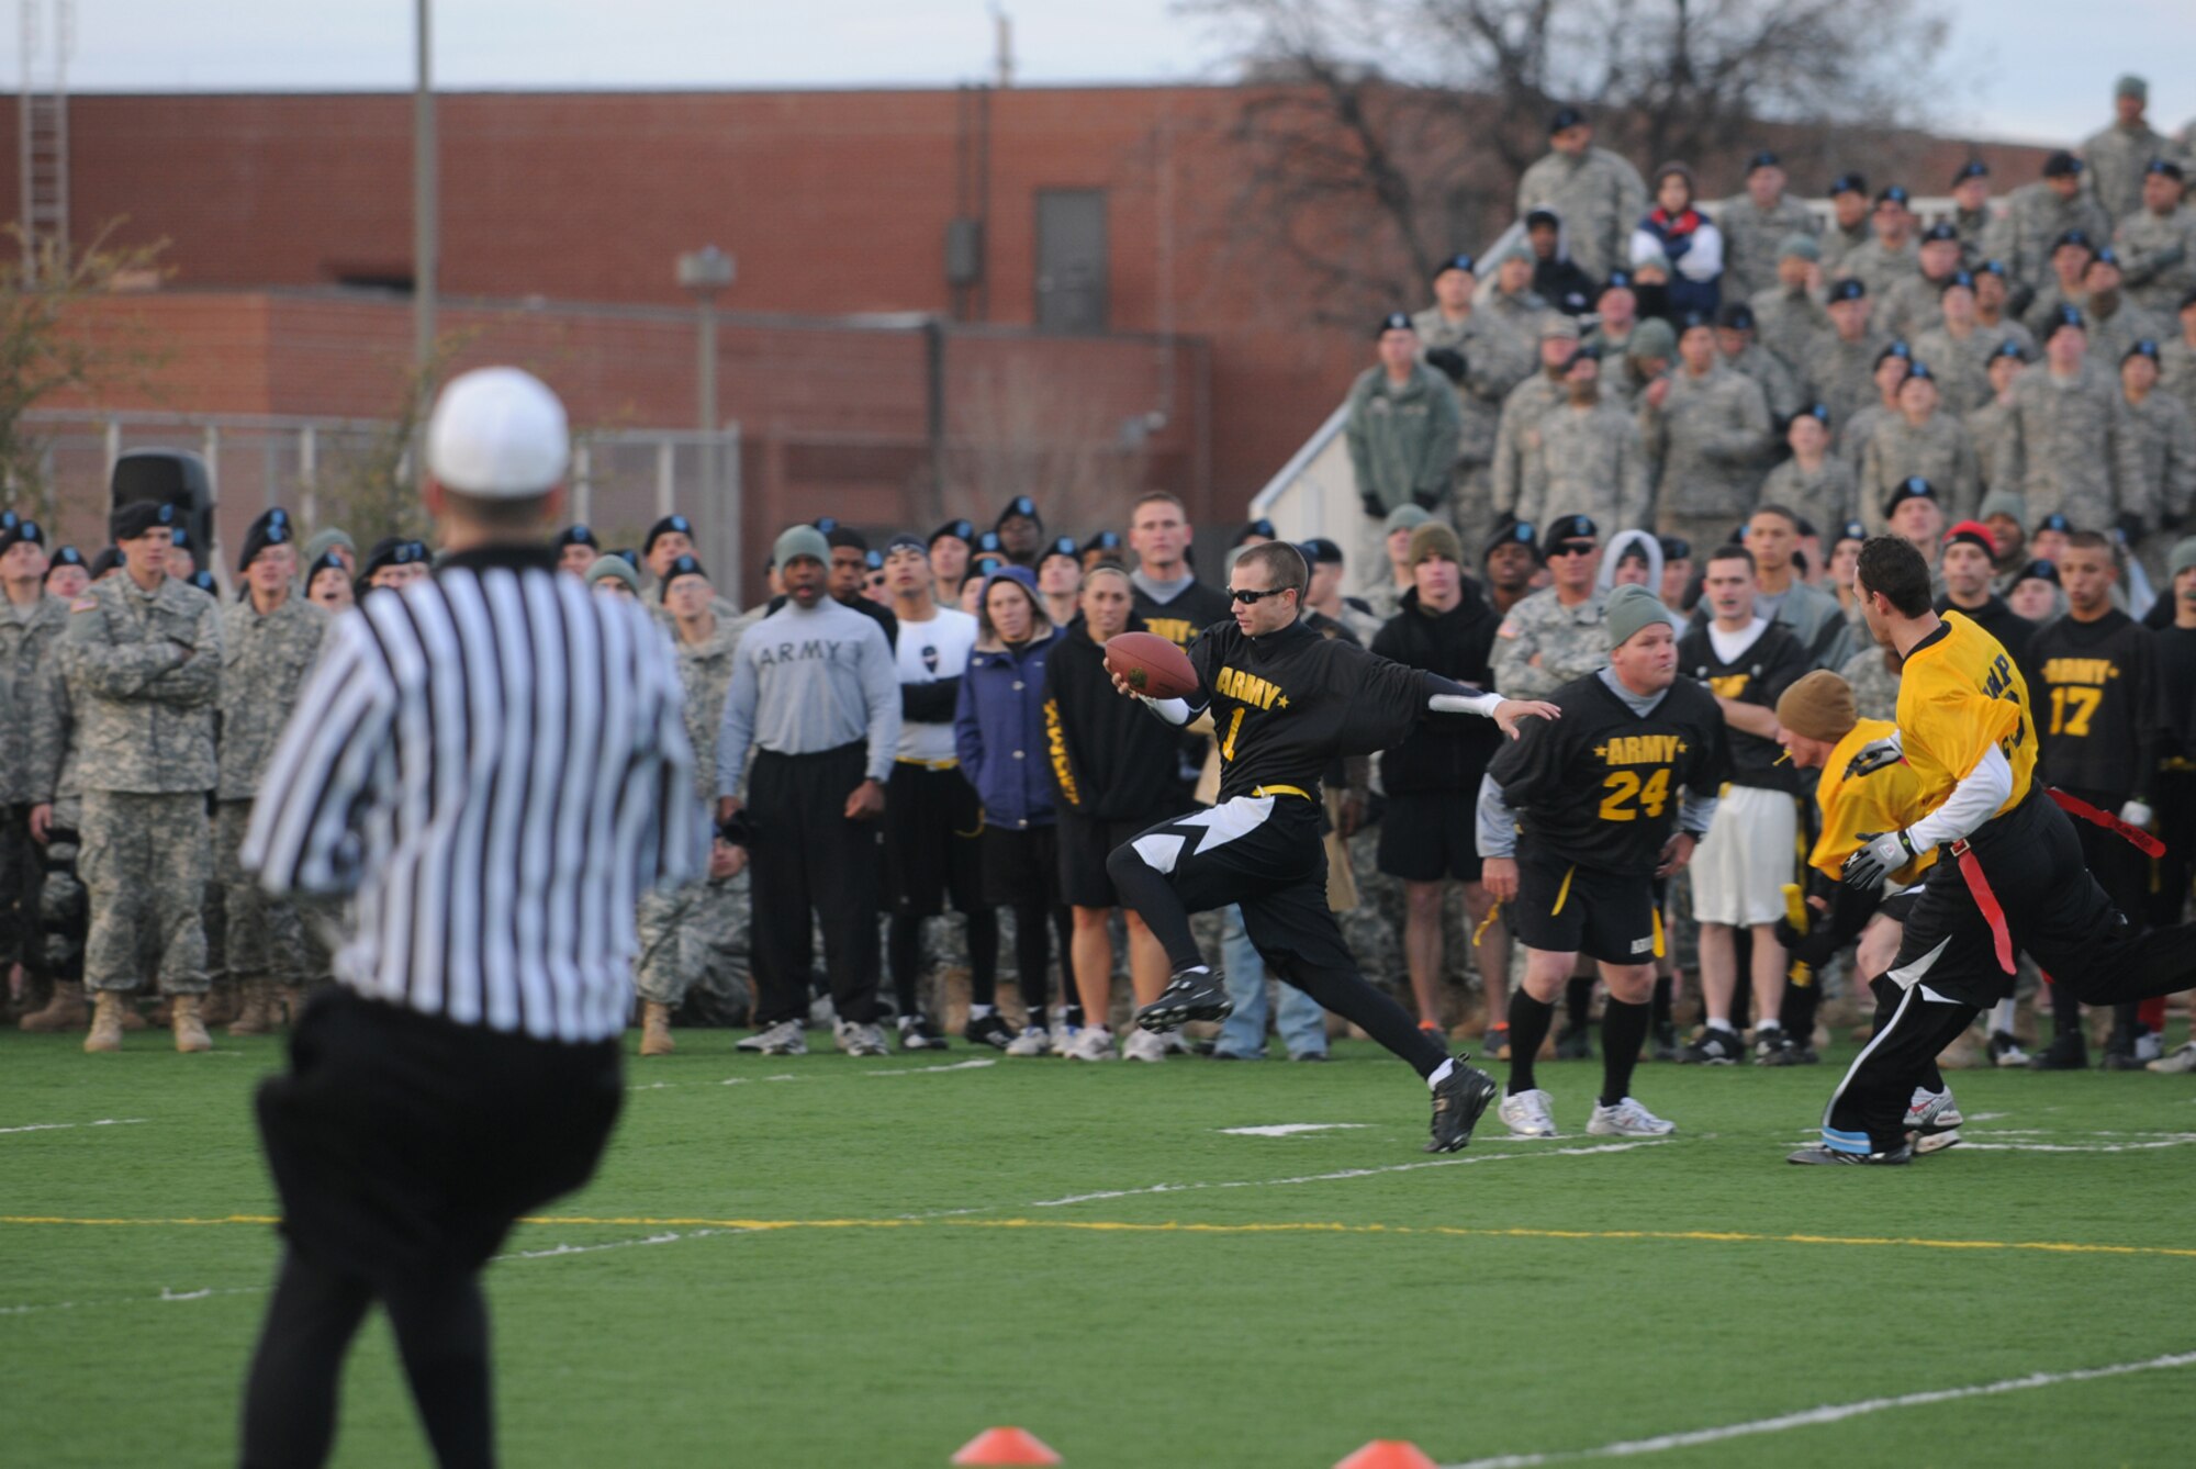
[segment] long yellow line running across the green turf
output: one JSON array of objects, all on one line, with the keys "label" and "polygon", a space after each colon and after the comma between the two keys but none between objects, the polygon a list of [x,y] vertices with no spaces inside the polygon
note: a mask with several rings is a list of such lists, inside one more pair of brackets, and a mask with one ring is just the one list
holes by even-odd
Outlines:
[{"label": "long yellow line running across the green turf", "polygon": [[[64,1219],[46,1214],[0,1214],[0,1225],[270,1225],[272,1214],[226,1214],[222,1219]],[[1737,1230],[1467,1230],[1460,1225],[1346,1225],[1346,1223],[1127,1223],[1089,1219],[676,1219],[652,1214],[551,1214],[520,1219],[529,1225],[626,1225],[744,1230],[1076,1230],[1085,1234],[1423,1234],[1436,1238],[1559,1238],[1559,1241],[1682,1241],[1708,1245],[1860,1245],[1878,1249],[2027,1249],[2042,1254],[2124,1254],[2196,1258],[2196,1247],[2088,1245],[2075,1241],[2005,1238],[1902,1238],[1856,1234],[1744,1234]]]}]

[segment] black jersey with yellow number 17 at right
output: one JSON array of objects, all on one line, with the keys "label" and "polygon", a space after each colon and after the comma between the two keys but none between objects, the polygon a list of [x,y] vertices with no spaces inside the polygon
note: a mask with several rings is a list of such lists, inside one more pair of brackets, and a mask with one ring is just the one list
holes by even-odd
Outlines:
[{"label": "black jersey with yellow number 17 at right", "polygon": [[2148,795],[2156,769],[2156,635],[2121,610],[2058,617],[2029,643],[2044,780],[2121,801]]}]

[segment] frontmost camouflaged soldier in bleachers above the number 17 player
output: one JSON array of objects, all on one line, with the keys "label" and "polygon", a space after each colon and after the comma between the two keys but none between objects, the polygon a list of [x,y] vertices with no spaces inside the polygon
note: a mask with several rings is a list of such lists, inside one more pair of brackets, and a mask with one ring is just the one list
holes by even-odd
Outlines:
[{"label": "frontmost camouflaged soldier in bleachers above the number 17 player", "polygon": [[2082,314],[2044,336],[2044,362],[2014,380],[2014,452],[2031,516],[2064,514],[2077,531],[2143,534],[2150,492],[2119,373],[2086,356]]}]

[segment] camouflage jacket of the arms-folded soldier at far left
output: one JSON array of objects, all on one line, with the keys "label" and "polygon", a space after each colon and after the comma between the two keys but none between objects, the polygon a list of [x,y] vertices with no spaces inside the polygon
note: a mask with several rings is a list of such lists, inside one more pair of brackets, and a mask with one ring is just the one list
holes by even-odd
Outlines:
[{"label": "camouflage jacket of the arms-folded soldier at far left", "polygon": [[213,790],[213,711],[222,683],[222,608],[165,577],[94,582],[61,635],[86,790]]}]

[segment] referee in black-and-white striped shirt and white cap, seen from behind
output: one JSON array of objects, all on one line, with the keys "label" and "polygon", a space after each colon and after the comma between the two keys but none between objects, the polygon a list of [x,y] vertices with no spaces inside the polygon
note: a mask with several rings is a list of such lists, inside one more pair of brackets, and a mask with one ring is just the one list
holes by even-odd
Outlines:
[{"label": "referee in black-and-white striped shirt and white cap, seen from behind", "polygon": [[441,1465],[490,1465],[481,1265],[584,1184],[624,1100],[632,911],[701,872],[679,670],[632,602],[556,573],[569,435],[509,367],[426,430],[448,560],[327,632],[244,865],[340,898],[338,984],[259,1089],[285,1252],[244,1465],[321,1465],[367,1307],[389,1313]]}]

